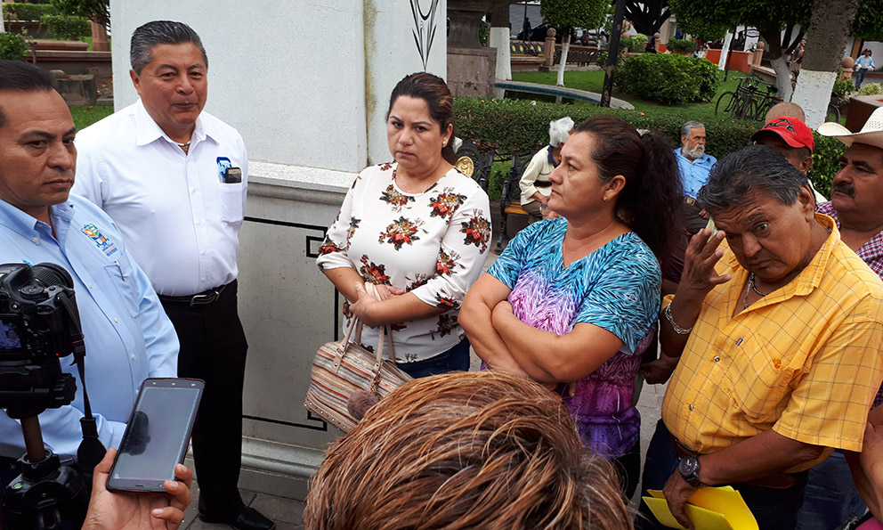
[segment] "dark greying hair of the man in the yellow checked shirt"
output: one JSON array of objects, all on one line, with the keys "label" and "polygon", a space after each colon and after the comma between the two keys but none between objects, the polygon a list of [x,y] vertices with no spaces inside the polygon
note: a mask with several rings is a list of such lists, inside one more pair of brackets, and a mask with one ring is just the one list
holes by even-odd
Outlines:
[{"label": "dark greying hair of the man in the yellow checked shirt", "polygon": [[717,161],[709,182],[696,200],[714,216],[753,200],[751,192],[766,192],[784,205],[794,204],[809,183],[806,175],[767,145],[749,145]]}]

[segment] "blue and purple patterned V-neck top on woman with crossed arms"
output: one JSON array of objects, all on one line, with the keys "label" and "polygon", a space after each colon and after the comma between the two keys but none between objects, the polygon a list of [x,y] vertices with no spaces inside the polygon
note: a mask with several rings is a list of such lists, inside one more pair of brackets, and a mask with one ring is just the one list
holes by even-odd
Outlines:
[{"label": "blue and purple patterned V-neck top on woman with crossed arms", "polygon": [[512,289],[508,300],[522,322],[558,335],[588,322],[622,340],[616,355],[579,380],[574,395],[564,397],[582,443],[617,457],[640,436],[633,397],[641,356],[635,353],[659,314],[660,265],[644,241],[628,232],[565,267],[566,230],[563,218],[531,224],[509,242],[488,273]]}]

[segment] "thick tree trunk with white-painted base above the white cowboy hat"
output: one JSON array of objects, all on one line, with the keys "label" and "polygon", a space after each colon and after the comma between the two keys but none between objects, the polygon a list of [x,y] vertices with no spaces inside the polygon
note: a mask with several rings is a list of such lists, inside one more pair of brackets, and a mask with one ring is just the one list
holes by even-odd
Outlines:
[{"label": "thick tree trunk with white-painted base above the white cowboy hat", "polygon": [[803,68],[794,92],[794,102],[806,113],[806,125],[814,129],[825,120],[858,4],[859,0],[814,0]]}]

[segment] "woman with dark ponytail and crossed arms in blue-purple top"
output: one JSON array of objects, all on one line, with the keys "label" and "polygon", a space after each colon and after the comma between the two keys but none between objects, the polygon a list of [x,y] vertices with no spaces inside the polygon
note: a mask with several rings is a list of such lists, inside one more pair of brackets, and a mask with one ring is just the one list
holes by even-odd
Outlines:
[{"label": "woman with dark ponytail and crossed arms in blue-purple top", "polygon": [[676,160],[661,136],[595,117],[574,130],[549,180],[561,218],[515,236],[466,294],[459,322],[491,369],[557,387],[583,444],[620,464],[631,496],[635,378],[659,314],[657,257],[679,225]]}]

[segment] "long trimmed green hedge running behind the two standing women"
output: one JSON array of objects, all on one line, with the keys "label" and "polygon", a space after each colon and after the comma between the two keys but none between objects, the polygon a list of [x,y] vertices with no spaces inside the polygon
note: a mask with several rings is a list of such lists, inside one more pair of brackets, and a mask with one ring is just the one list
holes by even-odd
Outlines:
[{"label": "long trimmed green hedge running behind the two standing women", "polygon": [[[636,110],[604,109],[592,105],[493,98],[454,98],[457,135],[477,143],[482,149],[495,149],[505,156],[514,152],[537,151],[548,143],[549,122],[570,116],[579,124],[599,114],[622,118],[638,129],[659,131],[671,139],[674,148],[681,143],[681,126],[695,119],[689,110],[667,114],[645,114]],[[757,130],[747,122],[732,118],[703,120],[710,155],[723,158],[751,143]],[[833,138],[815,135],[813,169],[810,171],[816,190],[830,197],[830,181],[837,174],[839,159],[846,146]]]}]

